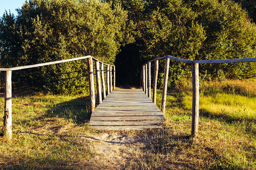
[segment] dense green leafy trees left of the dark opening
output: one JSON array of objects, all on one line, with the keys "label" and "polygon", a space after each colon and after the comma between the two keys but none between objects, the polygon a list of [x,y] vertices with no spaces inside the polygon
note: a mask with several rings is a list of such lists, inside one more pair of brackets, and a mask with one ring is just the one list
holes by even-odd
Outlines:
[{"label": "dense green leafy trees left of the dark opening", "polygon": [[[17,17],[6,12],[0,20],[1,66],[16,67],[86,55],[113,64],[120,46],[133,41],[126,21],[127,12],[120,6],[112,9],[99,1],[26,2],[18,9]],[[34,82],[34,86],[43,85],[54,92],[82,90],[87,82],[86,61],[18,74],[15,81]]]}]

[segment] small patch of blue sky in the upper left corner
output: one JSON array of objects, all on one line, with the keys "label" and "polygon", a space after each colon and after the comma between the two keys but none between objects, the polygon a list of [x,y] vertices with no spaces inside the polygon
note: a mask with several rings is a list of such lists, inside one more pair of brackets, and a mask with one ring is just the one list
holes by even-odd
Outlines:
[{"label": "small patch of blue sky in the upper left corner", "polygon": [[22,5],[26,2],[26,0],[0,0],[0,17],[3,16],[5,13],[5,10],[11,11],[15,16],[17,15],[17,12],[15,9],[18,9],[22,7]]}]

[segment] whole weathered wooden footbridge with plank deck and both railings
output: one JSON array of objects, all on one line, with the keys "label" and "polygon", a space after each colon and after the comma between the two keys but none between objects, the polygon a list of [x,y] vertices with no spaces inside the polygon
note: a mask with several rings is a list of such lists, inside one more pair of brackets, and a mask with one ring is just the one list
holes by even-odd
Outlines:
[{"label": "whole weathered wooden footbridge with plank deck and both railings", "polygon": [[[5,71],[5,114],[4,130],[5,136],[12,139],[12,71],[28,69],[75,60],[87,59],[89,87],[90,87],[90,108],[92,128],[107,130],[124,130],[124,129],[146,129],[158,128],[164,122],[163,114],[165,110],[165,100],[168,81],[169,61],[178,61],[192,64],[192,84],[193,84],[193,101],[192,101],[192,128],[191,135],[198,133],[199,121],[199,64],[200,63],[242,63],[256,62],[256,58],[245,59],[228,59],[228,60],[184,60],[172,56],[165,56],[148,61],[142,66],[141,89],[115,89],[115,66],[105,64],[92,56],[84,56],[67,60],[60,60],[29,66],[14,68],[0,68]],[[164,59],[164,79],[162,88],[161,110],[155,105],[156,102],[156,82],[158,74],[158,60]],[[95,61],[95,75],[94,65]],[[154,62],[153,75],[153,97],[151,98],[151,63]],[[101,69],[100,69],[101,63]],[[106,65],[106,73],[104,73]],[[113,68],[113,69],[112,69]],[[113,70],[113,71],[112,71]],[[113,72],[113,75],[112,75]],[[106,75],[106,86],[105,78]],[[97,84],[97,98],[99,105],[95,108],[96,95],[94,86],[94,76]],[[112,79],[113,78],[113,79]],[[103,89],[103,90],[102,90]],[[113,89],[113,90],[112,90]],[[103,93],[102,93],[103,91]]]}]

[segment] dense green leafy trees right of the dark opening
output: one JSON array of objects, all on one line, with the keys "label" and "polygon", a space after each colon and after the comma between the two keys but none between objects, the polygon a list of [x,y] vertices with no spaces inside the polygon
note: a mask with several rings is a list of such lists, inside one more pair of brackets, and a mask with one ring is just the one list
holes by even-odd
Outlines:
[{"label": "dense green leafy trees right of the dark opening", "polygon": [[[232,1],[111,2],[121,3],[136,23],[134,34],[143,62],[167,54],[190,60],[255,57],[255,24]],[[187,64],[170,63],[170,83],[190,77],[190,69]],[[242,79],[255,76],[255,71],[253,63],[200,65],[201,78],[207,79]]]}]

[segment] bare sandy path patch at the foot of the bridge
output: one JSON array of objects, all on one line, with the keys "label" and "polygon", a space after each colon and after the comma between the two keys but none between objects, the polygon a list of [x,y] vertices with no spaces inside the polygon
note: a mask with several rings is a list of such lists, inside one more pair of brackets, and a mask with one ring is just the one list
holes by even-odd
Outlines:
[{"label": "bare sandy path patch at the foot of the bridge", "polygon": [[97,152],[89,162],[94,164],[93,169],[123,169],[136,150],[145,145],[144,139],[137,135],[122,132],[103,132],[84,137],[92,142]]}]

